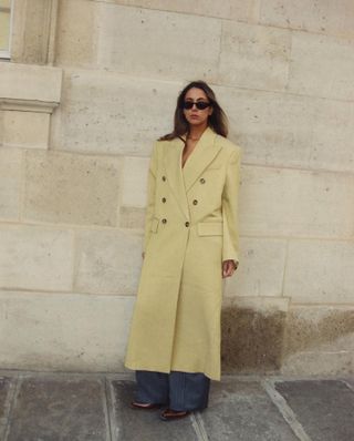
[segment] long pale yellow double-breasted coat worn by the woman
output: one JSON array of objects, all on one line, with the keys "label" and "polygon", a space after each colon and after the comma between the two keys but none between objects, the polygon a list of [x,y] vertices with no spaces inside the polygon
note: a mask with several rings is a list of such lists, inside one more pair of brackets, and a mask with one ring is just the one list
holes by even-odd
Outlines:
[{"label": "long pale yellow double-breasted coat worn by the woman", "polygon": [[238,260],[240,148],[207,129],[181,168],[184,142],[156,142],[145,259],[125,366],[220,380],[222,260]]}]

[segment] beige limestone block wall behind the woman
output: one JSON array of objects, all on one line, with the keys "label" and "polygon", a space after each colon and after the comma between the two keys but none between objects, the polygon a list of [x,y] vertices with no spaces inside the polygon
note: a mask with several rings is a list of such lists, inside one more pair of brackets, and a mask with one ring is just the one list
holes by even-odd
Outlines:
[{"label": "beige limestone block wall behind the woman", "polygon": [[15,6],[0,62],[0,367],[123,370],[152,143],[204,79],[243,151],[225,372],[353,373],[354,3]]}]

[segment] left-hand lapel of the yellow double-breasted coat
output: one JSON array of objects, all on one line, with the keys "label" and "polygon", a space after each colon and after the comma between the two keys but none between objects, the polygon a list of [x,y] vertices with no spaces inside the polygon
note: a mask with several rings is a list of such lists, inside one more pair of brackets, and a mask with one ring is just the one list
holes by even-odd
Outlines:
[{"label": "left-hand lapel of the yellow double-breasted coat", "polygon": [[167,180],[171,187],[171,191],[176,196],[176,201],[181,212],[184,213],[186,218],[189,219],[188,201],[181,171],[181,154],[184,147],[185,143],[179,139],[176,139],[168,143],[165,146],[164,162]]}]

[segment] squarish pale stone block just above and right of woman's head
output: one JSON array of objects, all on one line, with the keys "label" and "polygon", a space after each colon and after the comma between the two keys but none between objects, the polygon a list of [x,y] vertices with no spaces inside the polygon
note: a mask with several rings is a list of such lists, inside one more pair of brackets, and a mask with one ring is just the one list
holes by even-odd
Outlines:
[{"label": "squarish pale stone block just above and right of woman's head", "polygon": [[290,48],[288,30],[225,21],[219,79],[240,88],[284,90]]}]

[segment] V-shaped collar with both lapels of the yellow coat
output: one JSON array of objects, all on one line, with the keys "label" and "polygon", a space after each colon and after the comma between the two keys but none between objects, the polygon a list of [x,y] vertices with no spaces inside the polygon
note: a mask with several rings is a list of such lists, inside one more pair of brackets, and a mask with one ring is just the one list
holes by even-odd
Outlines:
[{"label": "V-shaped collar with both lapels of the yellow coat", "polygon": [[165,147],[164,158],[168,182],[175,193],[180,209],[187,218],[189,218],[187,192],[221,148],[216,144],[216,137],[217,134],[210,127],[207,127],[184,168],[181,168],[184,141],[175,139]]}]

